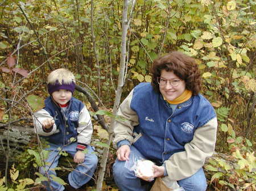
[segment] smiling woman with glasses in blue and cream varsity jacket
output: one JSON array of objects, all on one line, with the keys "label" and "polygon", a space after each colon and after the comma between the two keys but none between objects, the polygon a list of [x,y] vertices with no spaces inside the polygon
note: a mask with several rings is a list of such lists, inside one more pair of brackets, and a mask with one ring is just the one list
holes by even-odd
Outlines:
[{"label": "smiling woman with glasses in blue and cream varsity jacket", "polygon": [[200,71],[193,58],[172,52],[152,65],[152,82],[140,83],[120,105],[115,122],[117,160],[114,180],[122,191],[144,191],[143,177],[124,168],[132,152],[151,160],[154,177],[177,181],[185,191],[207,188],[203,165],[214,152],[217,117],[200,92]]}]

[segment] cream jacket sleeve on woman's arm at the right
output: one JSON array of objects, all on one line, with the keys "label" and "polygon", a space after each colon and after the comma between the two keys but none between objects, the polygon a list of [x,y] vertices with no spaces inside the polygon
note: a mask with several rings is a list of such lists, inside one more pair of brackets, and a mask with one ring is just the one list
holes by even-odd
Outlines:
[{"label": "cream jacket sleeve on woman's arm at the right", "polygon": [[176,152],[164,163],[171,180],[181,180],[203,167],[205,158],[212,156],[215,148],[217,118],[196,129],[191,142],[185,144],[185,151]]}]

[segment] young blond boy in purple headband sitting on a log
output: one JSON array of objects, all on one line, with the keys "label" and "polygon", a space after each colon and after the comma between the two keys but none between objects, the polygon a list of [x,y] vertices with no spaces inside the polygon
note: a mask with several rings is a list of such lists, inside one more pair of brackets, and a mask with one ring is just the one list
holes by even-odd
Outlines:
[{"label": "young blond boy in purple headband sitting on a log", "polygon": [[74,162],[79,164],[68,175],[69,185],[78,189],[92,178],[98,163],[94,148],[89,145],[93,132],[90,114],[80,100],[72,97],[75,77],[71,71],[52,71],[47,78],[47,88],[50,96],[44,101],[45,107],[34,113],[36,132],[48,141],[47,150],[50,151],[46,166],[40,168],[40,173],[51,181],[43,184],[47,190],[64,190],[64,186],[53,181],[51,176],[56,176],[54,168],[61,150],[71,154]]}]

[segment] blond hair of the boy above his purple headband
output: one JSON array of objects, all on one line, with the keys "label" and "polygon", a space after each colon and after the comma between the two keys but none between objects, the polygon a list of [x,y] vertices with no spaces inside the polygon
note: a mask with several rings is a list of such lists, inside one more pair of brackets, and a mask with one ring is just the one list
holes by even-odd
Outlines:
[{"label": "blond hair of the boy above his purple headband", "polygon": [[56,82],[59,82],[59,84],[71,84],[76,81],[73,73],[68,69],[57,69],[49,73],[47,77],[47,84],[55,84]]}]

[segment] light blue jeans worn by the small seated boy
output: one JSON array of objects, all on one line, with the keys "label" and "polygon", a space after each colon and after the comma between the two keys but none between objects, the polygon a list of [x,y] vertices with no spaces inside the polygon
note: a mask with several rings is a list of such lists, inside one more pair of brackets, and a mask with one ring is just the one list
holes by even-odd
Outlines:
[{"label": "light blue jeans worn by the small seated boy", "polygon": [[[46,166],[40,167],[40,173],[42,173],[42,175],[44,176],[47,176],[48,174],[51,179],[50,175],[56,176],[54,168],[57,167],[57,164],[59,162],[59,158],[61,155],[59,155],[60,149],[58,150],[58,148],[61,147],[52,143],[49,143],[49,146],[50,147],[46,149],[50,151],[48,159],[46,160]],[[70,145],[64,146],[61,151],[66,151],[72,156],[75,156],[77,152],[76,146],[77,142],[71,143]],[[86,150],[87,151],[85,152],[84,163],[78,164],[76,169],[68,175],[69,185],[71,185],[75,189],[80,188],[82,185],[86,184],[86,182],[88,182],[92,178],[93,173],[97,168],[98,158],[96,154],[92,153],[94,151],[94,148],[88,145]],[[47,191],[62,191],[65,189],[63,185],[53,180],[49,182],[44,181],[42,183],[46,185]]]}]

